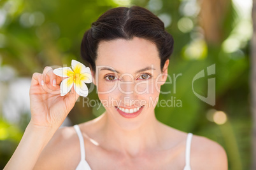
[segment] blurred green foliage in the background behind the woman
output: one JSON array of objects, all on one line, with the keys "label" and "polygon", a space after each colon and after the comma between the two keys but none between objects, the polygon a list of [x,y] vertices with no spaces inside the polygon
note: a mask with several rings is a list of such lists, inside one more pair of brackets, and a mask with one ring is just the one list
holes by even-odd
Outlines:
[{"label": "blurred green foliage in the background behind the woman", "polygon": [[[168,72],[171,77],[173,74],[182,75],[176,79],[176,93],[173,91],[174,83],[164,84],[161,90],[171,89],[171,93],[160,95],[159,100],[173,97],[176,101],[182,101],[182,107],[157,107],[157,119],[173,128],[206,136],[220,143],[227,152],[229,169],[249,169],[252,127],[248,88],[250,39],[243,40],[242,45],[232,52],[225,51],[222,43],[234,35],[239,14],[231,6],[224,16],[224,22],[220,24],[223,41],[210,44],[200,38],[199,16],[184,16],[181,12],[182,6],[188,1],[162,0],[160,8],[152,10],[157,8],[157,2],[131,2],[148,8],[155,15],[164,13],[171,17],[171,24],[166,30],[173,35],[175,44]],[[33,72],[42,72],[46,65],[68,65],[72,59],[82,61],[80,42],[85,30],[90,28],[90,23],[97,20],[104,11],[126,5],[108,0],[2,0],[0,19],[4,15],[6,20],[0,27],[0,68],[9,65],[17,71],[15,76],[31,77]],[[186,30],[185,26],[186,31],[181,31],[178,25],[183,17],[193,23],[190,29]],[[250,32],[250,27],[246,31]],[[194,49],[189,51],[190,48],[199,48],[201,53],[196,51],[199,55],[195,58]],[[207,96],[208,78],[215,77],[215,106],[199,100],[192,91],[193,77],[203,69],[206,74],[206,68],[213,64],[216,66],[216,74],[195,82],[194,90]],[[8,86],[7,81],[1,83]],[[89,93],[88,98],[97,99],[96,91]],[[73,124],[89,121],[104,112],[102,107],[99,110],[96,107],[83,107],[82,98],[80,101],[69,114]],[[225,113],[227,121],[224,124],[211,121],[213,109]],[[1,112],[0,169],[10,159],[29,122],[27,116],[23,119],[25,121],[13,124],[4,119]]]}]

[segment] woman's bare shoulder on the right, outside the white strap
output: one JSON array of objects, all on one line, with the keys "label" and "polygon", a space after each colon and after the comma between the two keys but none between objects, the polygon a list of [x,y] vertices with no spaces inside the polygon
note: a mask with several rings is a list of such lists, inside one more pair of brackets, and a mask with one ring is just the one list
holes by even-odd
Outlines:
[{"label": "woman's bare shoulder on the right, outside the white strap", "polygon": [[227,170],[227,154],[216,141],[193,134],[190,166],[191,169]]}]

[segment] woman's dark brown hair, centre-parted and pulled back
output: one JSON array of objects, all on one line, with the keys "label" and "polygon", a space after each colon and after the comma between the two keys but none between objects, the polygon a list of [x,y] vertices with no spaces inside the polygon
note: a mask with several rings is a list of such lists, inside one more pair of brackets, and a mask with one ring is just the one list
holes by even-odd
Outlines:
[{"label": "woman's dark brown hair, centre-parted and pulled back", "polygon": [[164,30],[164,23],[140,6],[112,8],[99,16],[85,32],[81,44],[82,58],[96,72],[97,48],[100,41],[131,40],[139,37],[152,41],[158,49],[160,68],[173,53],[173,37]]}]

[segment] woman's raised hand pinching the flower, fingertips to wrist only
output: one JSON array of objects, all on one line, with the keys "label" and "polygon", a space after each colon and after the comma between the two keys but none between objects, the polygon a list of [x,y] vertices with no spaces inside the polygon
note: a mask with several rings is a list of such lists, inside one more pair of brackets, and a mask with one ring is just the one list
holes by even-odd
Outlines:
[{"label": "woman's raised hand pinching the flower, fingertips to wrist only", "polygon": [[29,91],[31,122],[38,128],[59,128],[74,107],[79,95],[74,87],[65,96],[60,96],[62,77],[53,74],[52,67],[45,67],[43,74],[32,75]]}]

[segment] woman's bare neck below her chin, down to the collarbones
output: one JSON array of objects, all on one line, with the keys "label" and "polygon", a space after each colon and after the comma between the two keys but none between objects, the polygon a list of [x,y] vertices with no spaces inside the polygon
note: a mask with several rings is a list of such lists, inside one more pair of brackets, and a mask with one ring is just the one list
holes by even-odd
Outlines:
[{"label": "woman's bare neck below her chin, down to the collarbones", "polygon": [[[127,129],[120,126],[107,112],[104,112],[102,128],[104,141],[108,141],[107,147],[135,157],[159,145],[160,122],[157,121],[154,112],[147,112],[147,114],[146,119],[143,119],[143,122],[136,128]],[[127,124],[127,126],[129,125],[131,124]]]}]

